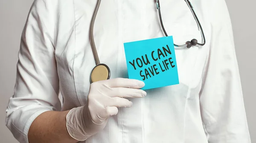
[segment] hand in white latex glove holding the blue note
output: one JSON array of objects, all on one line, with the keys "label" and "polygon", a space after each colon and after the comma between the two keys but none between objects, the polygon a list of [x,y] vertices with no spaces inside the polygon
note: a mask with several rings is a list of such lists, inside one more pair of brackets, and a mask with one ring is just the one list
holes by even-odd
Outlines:
[{"label": "hand in white latex glove holding the blue note", "polygon": [[70,110],[67,114],[67,130],[71,137],[84,141],[100,132],[108,118],[118,113],[117,107],[131,107],[125,98],[141,98],[146,92],[143,81],[135,79],[108,79],[90,85],[87,104]]}]

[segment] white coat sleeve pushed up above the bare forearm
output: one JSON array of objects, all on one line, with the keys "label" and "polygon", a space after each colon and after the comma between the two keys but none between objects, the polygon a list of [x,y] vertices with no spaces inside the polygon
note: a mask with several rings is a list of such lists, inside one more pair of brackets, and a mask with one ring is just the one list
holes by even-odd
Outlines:
[{"label": "white coat sleeve pushed up above the bare forearm", "polygon": [[54,48],[55,0],[35,0],[22,32],[14,95],[6,109],[6,126],[20,143],[43,112],[61,110]]}]

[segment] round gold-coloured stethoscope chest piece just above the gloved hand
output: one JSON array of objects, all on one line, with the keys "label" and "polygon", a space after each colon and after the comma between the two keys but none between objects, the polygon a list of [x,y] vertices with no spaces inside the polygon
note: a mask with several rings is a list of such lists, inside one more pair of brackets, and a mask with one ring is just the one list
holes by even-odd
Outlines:
[{"label": "round gold-coloured stethoscope chest piece just above the gloved hand", "polygon": [[106,64],[98,64],[96,65],[91,74],[90,74],[90,82],[103,81],[110,79],[110,69]]}]

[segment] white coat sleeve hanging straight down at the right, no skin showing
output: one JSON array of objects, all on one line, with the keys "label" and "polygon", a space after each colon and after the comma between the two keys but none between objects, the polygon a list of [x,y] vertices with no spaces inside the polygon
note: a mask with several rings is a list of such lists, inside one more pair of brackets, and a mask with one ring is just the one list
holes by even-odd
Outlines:
[{"label": "white coat sleeve hanging straight down at the right, no skin showing", "polygon": [[230,15],[224,0],[211,1],[212,34],[200,92],[205,132],[209,143],[250,143]]}]

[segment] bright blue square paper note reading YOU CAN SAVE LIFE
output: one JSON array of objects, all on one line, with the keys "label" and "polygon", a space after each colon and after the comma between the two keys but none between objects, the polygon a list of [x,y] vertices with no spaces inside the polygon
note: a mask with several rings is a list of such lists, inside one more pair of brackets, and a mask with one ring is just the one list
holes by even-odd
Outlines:
[{"label": "bright blue square paper note reading YOU CAN SAVE LIFE", "polygon": [[179,84],[172,36],[124,43],[129,79],[145,82],[143,90]]}]

